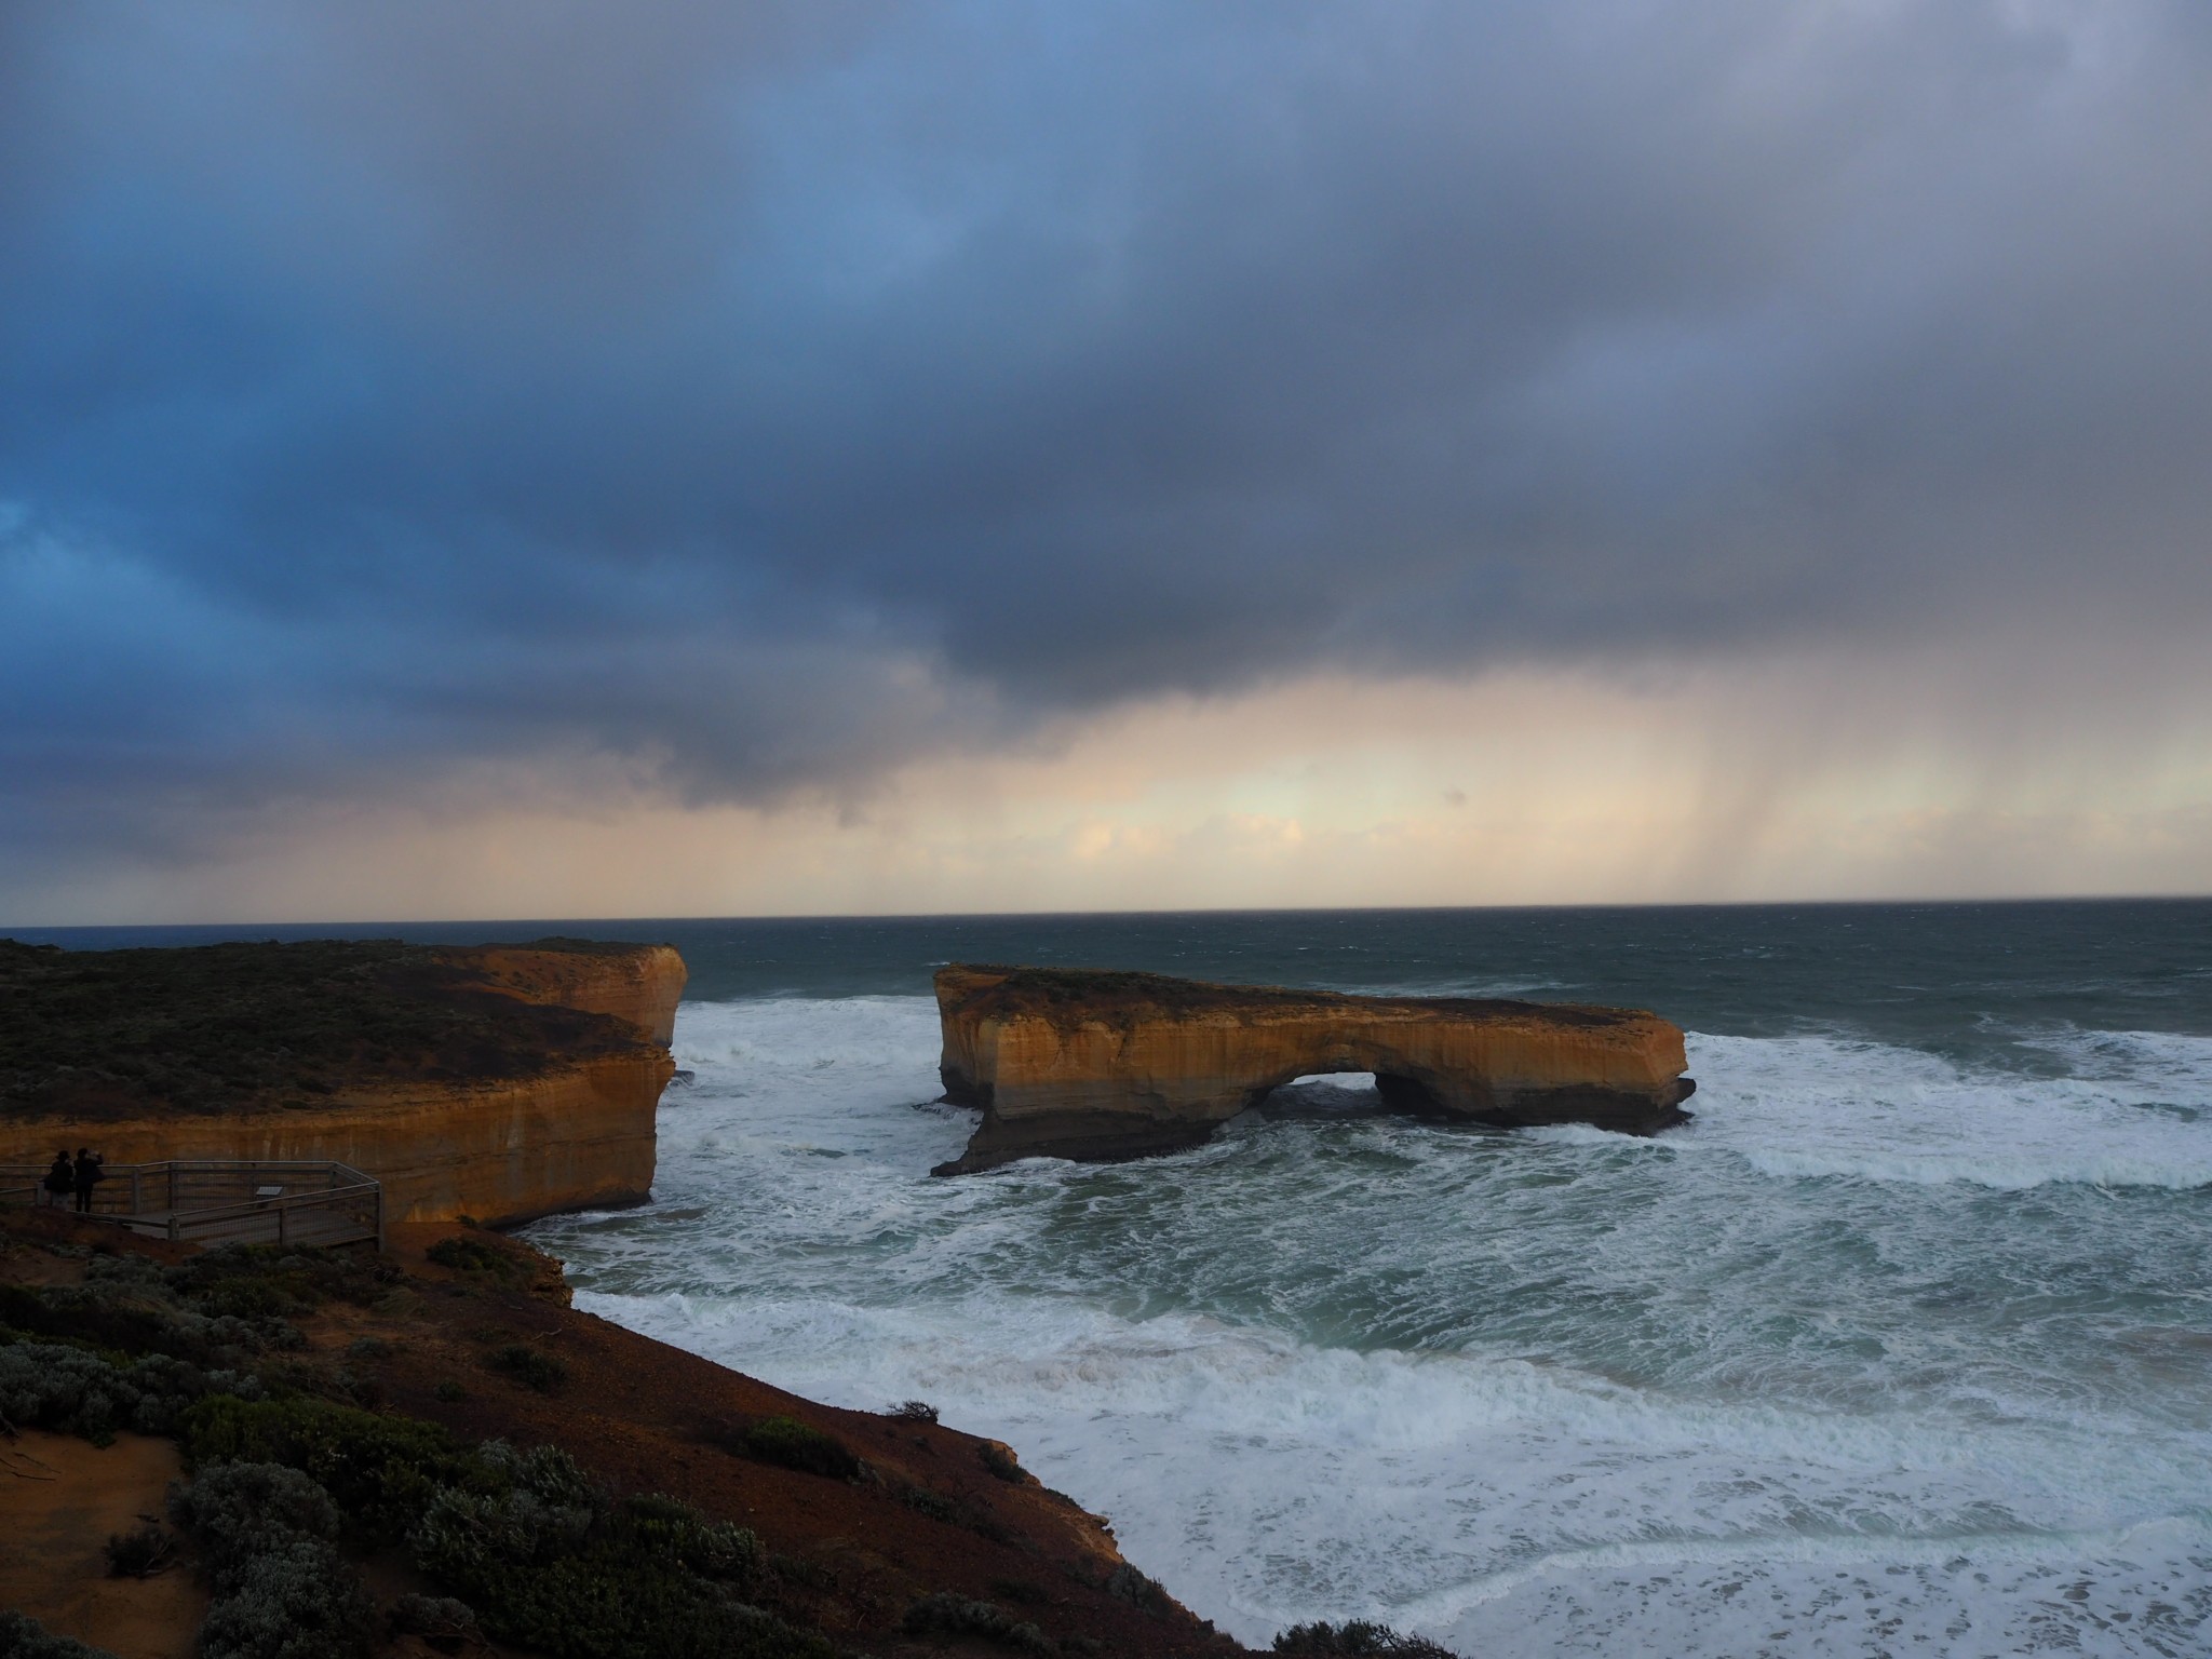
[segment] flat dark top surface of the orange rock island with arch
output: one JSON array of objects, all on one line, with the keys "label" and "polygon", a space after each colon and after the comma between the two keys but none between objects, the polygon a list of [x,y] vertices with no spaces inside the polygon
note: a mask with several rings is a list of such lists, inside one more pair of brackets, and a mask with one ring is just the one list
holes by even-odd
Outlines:
[{"label": "flat dark top surface of the orange rock island with arch", "polygon": [[1040,969],[953,962],[938,971],[938,1004],[951,1015],[1042,1018],[1060,1026],[1082,1022],[1135,1024],[1144,1020],[1254,1018],[1298,1013],[1369,1015],[1387,1020],[1511,1020],[1553,1026],[1626,1026],[1655,1020],[1641,1009],[1597,1009],[1573,1002],[1515,1002],[1511,998],[1376,998],[1343,991],[1298,991],[1283,984],[1214,984],[1166,973],[1117,969]]}]

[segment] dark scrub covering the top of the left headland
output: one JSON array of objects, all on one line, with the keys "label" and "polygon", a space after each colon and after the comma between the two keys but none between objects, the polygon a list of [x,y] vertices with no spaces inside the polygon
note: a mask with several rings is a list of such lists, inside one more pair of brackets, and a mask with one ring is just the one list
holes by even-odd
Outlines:
[{"label": "dark scrub covering the top of the left headland", "polygon": [[[529,949],[568,949],[540,940]],[[0,1117],[312,1108],[385,1084],[533,1077],[639,1046],[398,940],[62,951],[0,940]]]}]

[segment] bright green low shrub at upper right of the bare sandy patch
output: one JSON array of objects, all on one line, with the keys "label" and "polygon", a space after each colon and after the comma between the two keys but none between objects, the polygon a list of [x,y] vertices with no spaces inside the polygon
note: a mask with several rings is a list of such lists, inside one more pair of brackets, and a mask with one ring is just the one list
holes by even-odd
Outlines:
[{"label": "bright green low shrub at upper right of the bare sandy patch", "polygon": [[330,1400],[212,1396],[179,1422],[190,1462],[281,1462],[312,1475],[367,1533],[396,1540],[438,1486],[482,1484],[480,1458],[434,1422]]}]

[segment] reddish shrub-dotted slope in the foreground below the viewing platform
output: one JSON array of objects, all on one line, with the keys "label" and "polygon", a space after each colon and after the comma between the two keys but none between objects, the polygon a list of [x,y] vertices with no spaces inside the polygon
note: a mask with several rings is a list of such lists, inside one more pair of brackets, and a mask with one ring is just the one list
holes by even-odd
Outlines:
[{"label": "reddish shrub-dotted slope in the foreground below the viewing platform", "polygon": [[[197,1252],[0,1210],[0,1371],[9,1356],[7,1451],[31,1478],[0,1471],[0,1608],[124,1659],[212,1650],[210,1535],[168,1495],[226,1458],[290,1464],[345,1513],[316,1555],[327,1593],[290,1582],[294,1648],[314,1652],[1245,1652],[1002,1442],[920,1402],[818,1405],[575,1312],[562,1263],[518,1239],[398,1225],[385,1254]],[[44,1371],[80,1387],[22,1387]],[[533,1471],[562,1480],[560,1506],[511,1506]],[[111,1575],[108,1535],[148,1520],[175,1571]],[[237,1593],[215,1593],[234,1630]],[[314,1644],[301,1608],[349,1613],[345,1639]]]}]

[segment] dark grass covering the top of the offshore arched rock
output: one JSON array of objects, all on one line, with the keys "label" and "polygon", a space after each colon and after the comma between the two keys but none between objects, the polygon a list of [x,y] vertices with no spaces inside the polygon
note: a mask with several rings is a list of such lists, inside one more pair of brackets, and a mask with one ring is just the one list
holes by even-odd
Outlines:
[{"label": "dark grass covering the top of the offshore arched rock", "polygon": [[1285,984],[1214,984],[1135,969],[1006,967],[953,962],[956,973],[1002,973],[956,1006],[982,1006],[1000,1018],[1035,1013],[1053,1022],[1139,1020],[1179,1013],[1239,1013],[1256,1009],[1413,1009],[1444,1015],[1533,1015],[1568,1026],[1608,1026],[1646,1018],[1637,1009],[1595,1009],[1573,1002],[1515,1002],[1511,998],[1389,998],[1345,991],[1301,991]]}]

